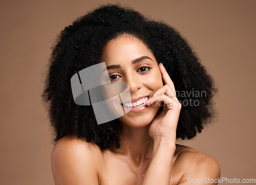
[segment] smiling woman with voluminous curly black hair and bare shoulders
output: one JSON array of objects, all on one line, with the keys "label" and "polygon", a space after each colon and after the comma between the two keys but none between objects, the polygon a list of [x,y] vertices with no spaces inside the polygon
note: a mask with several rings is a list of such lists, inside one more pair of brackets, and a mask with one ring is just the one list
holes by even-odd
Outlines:
[{"label": "smiling woman with voluminous curly black hair and bare shoulders", "polygon": [[[101,62],[112,83],[129,85],[133,107],[98,125],[91,106],[74,103],[70,79]],[[195,91],[203,96],[182,94]],[[55,133],[55,183],[217,184],[202,182],[220,176],[214,159],[176,144],[212,121],[215,92],[214,80],[172,27],[118,5],[78,18],[53,47],[42,94]]]}]

